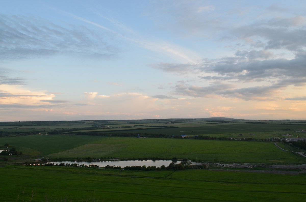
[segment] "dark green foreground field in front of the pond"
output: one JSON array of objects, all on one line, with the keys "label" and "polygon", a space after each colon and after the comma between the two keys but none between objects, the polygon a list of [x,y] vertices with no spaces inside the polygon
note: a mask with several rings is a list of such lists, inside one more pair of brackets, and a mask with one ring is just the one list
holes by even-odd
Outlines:
[{"label": "dark green foreground field in front of the pond", "polygon": [[1,201],[303,201],[306,175],[0,166]]}]

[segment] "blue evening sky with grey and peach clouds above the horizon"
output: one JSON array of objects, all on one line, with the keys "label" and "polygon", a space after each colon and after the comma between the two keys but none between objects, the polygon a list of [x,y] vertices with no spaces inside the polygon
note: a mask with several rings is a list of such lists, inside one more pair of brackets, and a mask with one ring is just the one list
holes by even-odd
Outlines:
[{"label": "blue evening sky with grey and peach clouds above the horizon", "polygon": [[306,1],[0,1],[0,121],[306,119]]}]

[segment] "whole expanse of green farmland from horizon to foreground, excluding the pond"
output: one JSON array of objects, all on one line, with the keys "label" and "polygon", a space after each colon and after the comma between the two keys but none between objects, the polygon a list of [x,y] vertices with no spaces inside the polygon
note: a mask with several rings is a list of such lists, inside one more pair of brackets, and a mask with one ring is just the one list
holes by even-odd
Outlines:
[{"label": "whole expanse of green farmland from horizon to foreground, excluding the pond", "polygon": [[[226,118],[0,122],[0,149],[6,149],[8,143],[9,149],[15,147],[19,152],[0,156],[0,201],[303,201],[306,173],[300,169],[291,169],[288,175],[266,172],[275,173],[272,168],[218,170],[216,165],[200,170],[128,171],[13,164],[33,162],[37,157],[53,161],[177,157],[213,163],[306,164],[305,157],[281,150],[270,139],[284,134],[305,138],[306,133],[295,133],[306,129],[304,123]],[[136,138],[138,134],[149,138]],[[193,139],[196,135],[210,138]],[[212,140],[218,137],[232,140]],[[283,142],[278,145],[304,152]]]}]

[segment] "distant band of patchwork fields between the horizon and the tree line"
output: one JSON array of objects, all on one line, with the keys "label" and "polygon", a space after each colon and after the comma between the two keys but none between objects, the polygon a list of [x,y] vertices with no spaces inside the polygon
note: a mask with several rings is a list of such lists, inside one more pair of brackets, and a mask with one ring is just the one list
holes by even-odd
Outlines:
[{"label": "distant band of patchwork fields between the horizon and the tree line", "polygon": [[[98,121],[29,121],[0,122],[0,136],[17,134],[68,134],[89,135],[134,134],[134,135],[209,135],[211,137],[269,139],[282,138],[284,134],[306,138],[306,133],[295,133],[306,129],[302,120],[239,120],[222,117],[203,119],[151,119],[151,120],[98,120]],[[160,128],[163,127],[163,128]],[[172,128],[171,128],[172,127]],[[177,128],[173,128],[177,127]],[[156,129],[159,128],[159,129]],[[135,130],[138,129],[138,130]]]}]

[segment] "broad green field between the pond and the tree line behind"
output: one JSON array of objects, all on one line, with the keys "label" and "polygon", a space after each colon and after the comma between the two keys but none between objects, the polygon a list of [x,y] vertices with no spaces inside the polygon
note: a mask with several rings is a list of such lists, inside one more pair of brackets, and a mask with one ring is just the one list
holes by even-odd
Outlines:
[{"label": "broad green field between the pond and the tree line behind", "polygon": [[188,158],[211,162],[305,163],[306,158],[276,147],[273,142],[172,138],[27,135],[2,137],[23,154],[46,157]]}]

